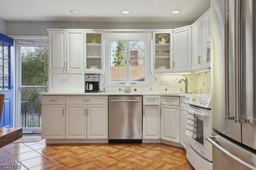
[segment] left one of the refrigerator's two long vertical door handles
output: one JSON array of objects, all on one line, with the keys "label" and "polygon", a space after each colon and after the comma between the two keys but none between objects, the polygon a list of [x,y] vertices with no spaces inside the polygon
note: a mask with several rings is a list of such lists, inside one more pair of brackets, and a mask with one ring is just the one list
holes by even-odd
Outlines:
[{"label": "left one of the refrigerator's two long vertical door handles", "polygon": [[224,65],[225,65],[225,120],[234,120],[229,115],[229,67],[228,67],[228,0],[225,0],[225,16],[224,16]]}]

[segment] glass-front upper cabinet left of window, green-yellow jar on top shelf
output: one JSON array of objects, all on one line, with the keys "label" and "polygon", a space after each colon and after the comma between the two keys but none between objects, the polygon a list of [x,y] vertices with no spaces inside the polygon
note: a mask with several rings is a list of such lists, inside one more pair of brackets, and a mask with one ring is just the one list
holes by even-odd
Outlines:
[{"label": "glass-front upper cabinet left of window, green-yellow jar on top shelf", "polygon": [[85,72],[102,73],[104,71],[103,32],[85,31]]}]

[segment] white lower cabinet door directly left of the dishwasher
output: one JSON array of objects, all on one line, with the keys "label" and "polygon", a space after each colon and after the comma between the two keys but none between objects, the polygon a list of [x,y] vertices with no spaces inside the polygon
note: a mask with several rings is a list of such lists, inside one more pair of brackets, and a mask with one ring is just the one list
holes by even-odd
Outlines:
[{"label": "white lower cabinet door directly left of the dishwasher", "polygon": [[108,138],[108,105],[87,105],[87,138]]}]

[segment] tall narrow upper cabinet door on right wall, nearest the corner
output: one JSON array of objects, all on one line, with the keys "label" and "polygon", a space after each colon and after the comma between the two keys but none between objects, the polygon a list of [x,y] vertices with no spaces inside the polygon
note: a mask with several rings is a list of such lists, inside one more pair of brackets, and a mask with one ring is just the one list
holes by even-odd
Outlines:
[{"label": "tall narrow upper cabinet door on right wall, nearest the corner", "polygon": [[199,69],[201,67],[201,49],[201,21],[199,20],[192,26],[192,69]]}]

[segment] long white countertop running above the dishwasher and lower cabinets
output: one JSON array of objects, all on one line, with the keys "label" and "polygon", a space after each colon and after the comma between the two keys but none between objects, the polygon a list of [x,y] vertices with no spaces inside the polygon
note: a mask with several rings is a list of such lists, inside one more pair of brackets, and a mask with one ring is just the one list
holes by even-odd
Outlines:
[{"label": "long white countertop running above the dishwasher and lower cabinets", "polygon": [[42,95],[59,95],[59,96],[180,96],[186,97],[189,93],[166,93],[166,92],[131,92],[131,93],[122,93],[122,92],[100,92],[100,93],[42,93]]}]

